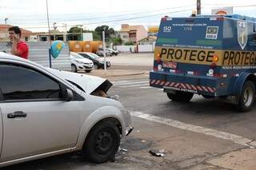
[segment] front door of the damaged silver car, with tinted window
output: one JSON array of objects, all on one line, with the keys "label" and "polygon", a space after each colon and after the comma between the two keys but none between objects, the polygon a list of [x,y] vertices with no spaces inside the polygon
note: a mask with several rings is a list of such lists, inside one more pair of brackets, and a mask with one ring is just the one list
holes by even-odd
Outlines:
[{"label": "front door of the damaged silver car, with tinted window", "polygon": [[0,64],[1,161],[74,147],[81,101],[64,101],[61,83],[30,67]]}]

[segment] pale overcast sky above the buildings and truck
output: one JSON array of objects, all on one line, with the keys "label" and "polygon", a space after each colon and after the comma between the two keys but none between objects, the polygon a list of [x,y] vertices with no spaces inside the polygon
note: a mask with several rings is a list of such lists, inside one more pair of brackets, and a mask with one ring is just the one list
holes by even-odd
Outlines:
[{"label": "pale overcast sky above the buildings and truck", "polygon": [[[250,6],[253,5],[253,6]],[[252,0],[202,0],[202,14],[211,9],[234,6],[234,14],[256,17],[256,2]],[[238,7],[235,7],[238,6]],[[243,6],[243,7],[240,7]],[[108,25],[119,30],[121,24],[155,26],[162,16],[186,17],[196,8],[196,0],[48,0],[50,26],[63,30],[82,25],[94,30],[96,26]],[[32,31],[47,31],[46,0],[1,0],[0,24],[21,26]]]}]

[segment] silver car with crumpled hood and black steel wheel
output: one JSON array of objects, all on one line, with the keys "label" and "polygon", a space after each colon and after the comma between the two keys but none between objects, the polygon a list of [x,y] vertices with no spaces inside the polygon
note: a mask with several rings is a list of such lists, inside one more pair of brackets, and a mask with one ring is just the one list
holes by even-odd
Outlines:
[{"label": "silver car with crumpled hood and black steel wheel", "polygon": [[0,52],[0,166],[66,152],[114,158],[130,113],[100,77],[46,68]]}]

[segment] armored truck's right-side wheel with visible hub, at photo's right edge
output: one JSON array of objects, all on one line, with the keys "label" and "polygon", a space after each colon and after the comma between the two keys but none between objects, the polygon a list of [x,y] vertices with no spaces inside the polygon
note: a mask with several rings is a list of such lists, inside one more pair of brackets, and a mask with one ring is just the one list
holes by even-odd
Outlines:
[{"label": "armored truck's right-side wheel with visible hub, at photo's right edge", "polygon": [[246,81],[242,87],[242,93],[238,101],[238,110],[248,112],[254,105],[255,85],[252,81]]}]

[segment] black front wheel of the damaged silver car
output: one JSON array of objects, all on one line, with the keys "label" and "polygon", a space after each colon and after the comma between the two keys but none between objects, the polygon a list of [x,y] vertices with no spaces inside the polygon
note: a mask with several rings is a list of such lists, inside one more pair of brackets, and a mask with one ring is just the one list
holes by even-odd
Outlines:
[{"label": "black front wheel of the damaged silver car", "polygon": [[114,159],[120,145],[120,132],[114,123],[102,121],[92,128],[86,137],[83,155],[92,163]]}]

